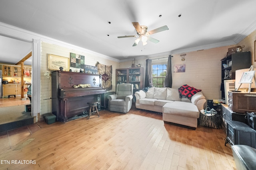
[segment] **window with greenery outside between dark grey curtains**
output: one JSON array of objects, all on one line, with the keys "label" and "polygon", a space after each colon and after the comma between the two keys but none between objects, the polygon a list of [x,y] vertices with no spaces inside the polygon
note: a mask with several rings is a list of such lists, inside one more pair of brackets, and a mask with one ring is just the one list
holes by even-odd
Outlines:
[{"label": "window with greenery outside between dark grey curtains", "polygon": [[152,81],[154,87],[164,87],[167,64],[152,65]]}]

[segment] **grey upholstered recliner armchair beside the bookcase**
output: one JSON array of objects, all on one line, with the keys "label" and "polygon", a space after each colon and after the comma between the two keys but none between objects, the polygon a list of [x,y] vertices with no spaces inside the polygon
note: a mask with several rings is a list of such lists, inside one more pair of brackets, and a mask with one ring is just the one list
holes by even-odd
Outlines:
[{"label": "grey upholstered recliner armchair beside the bookcase", "polygon": [[122,113],[128,112],[132,107],[133,84],[117,84],[116,94],[108,96],[108,108],[110,111]]}]

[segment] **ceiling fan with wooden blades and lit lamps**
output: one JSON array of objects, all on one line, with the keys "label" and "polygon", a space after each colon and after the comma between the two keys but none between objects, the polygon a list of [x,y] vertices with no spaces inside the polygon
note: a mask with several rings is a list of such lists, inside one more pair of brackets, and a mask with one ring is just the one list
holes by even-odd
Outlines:
[{"label": "ceiling fan with wooden blades and lit lamps", "polygon": [[132,45],[133,47],[136,46],[136,45],[138,45],[138,43],[139,43],[140,41],[142,41],[142,45],[146,45],[146,44],[147,44],[147,41],[151,41],[151,42],[153,42],[153,43],[158,43],[159,40],[150,37],[150,35],[152,35],[152,34],[154,34],[154,33],[161,32],[161,31],[165,31],[165,30],[168,30],[168,29],[169,29],[166,25],[164,25],[164,26],[162,26],[162,27],[153,29],[153,30],[151,30],[151,31],[147,31],[147,30],[148,30],[148,27],[147,27],[147,26],[140,25],[138,22],[132,22],[132,24],[133,24],[133,26],[135,27],[135,29],[136,29],[138,35],[125,35],[125,36],[120,36],[120,37],[118,37],[118,38],[138,37],[138,38],[135,40],[135,43]]}]

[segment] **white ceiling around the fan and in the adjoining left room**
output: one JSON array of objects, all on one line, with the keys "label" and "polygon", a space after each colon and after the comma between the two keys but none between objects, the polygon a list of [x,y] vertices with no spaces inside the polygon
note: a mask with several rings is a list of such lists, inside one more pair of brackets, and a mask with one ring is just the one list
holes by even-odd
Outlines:
[{"label": "white ceiling around the fan and in the adjoining left room", "polygon": [[[0,22],[122,61],[236,44],[256,29],[255,6],[256,0],[1,0]],[[157,44],[132,47],[135,37],[117,37],[136,35],[134,21],[148,31],[169,30],[151,35]],[[14,52],[10,47],[1,61]]]}]

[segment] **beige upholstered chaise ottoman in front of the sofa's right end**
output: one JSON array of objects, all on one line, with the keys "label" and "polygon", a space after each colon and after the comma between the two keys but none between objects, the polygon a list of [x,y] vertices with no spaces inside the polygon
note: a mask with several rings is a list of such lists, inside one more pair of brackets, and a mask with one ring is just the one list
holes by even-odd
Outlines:
[{"label": "beige upholstered chaise ottoman in front of the sofa's right end", "polygon": [[166,103],[163,106],[163,121],[188,126],[190,129],[196,129],[199,111],[196,105],[190,102],[175,101]]}]

